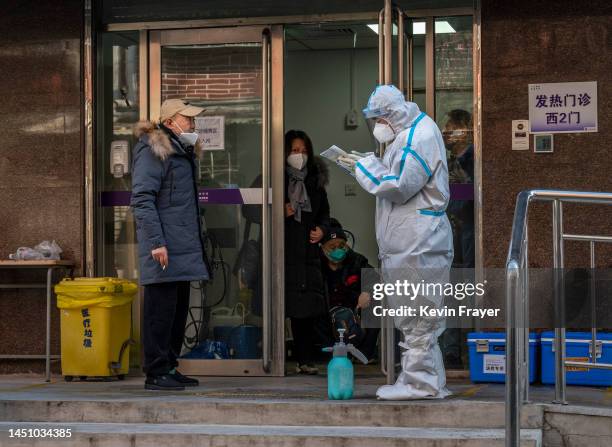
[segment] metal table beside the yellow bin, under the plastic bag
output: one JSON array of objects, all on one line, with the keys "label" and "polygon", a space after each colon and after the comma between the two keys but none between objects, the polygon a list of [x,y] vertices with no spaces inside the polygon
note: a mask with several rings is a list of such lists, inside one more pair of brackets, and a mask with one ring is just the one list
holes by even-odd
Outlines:
[{"label": "metal table beside the yellow bin, under the plastic bag", "polygon": [[[47,290],[47,334],[45,355],[16,355],[0,354],[4,359],[45,359],[46,381],[51,381],[51,296],[52,280],[54,270],[69,270],[73,276],[73,261],[0,261],[0,270],[22,269],[22,270],[46,270],[46,283],[22,283],[22,284],[0,284],[0,289],[46,289]],[[54,359],[60,358],[59,355],[53,356]]]}]

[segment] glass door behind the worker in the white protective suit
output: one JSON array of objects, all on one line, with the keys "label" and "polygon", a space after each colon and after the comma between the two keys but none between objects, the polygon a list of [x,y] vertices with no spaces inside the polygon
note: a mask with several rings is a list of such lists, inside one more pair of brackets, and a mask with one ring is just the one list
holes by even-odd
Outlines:
[{"label": "glass door behind the worker in the white protective suit", "polygon": [[[381,84],[395,84],[442,130],[450,174],[447,214],[455,242],[453,268],[472,269],[471,274],[475,267],[472,27],[472,15],[418,17],[392,6],[390,0],[385,0],[378,23]],[[389,320],[383,319],[381,326],[381,369],[387,382],[393,383],[398,333]],[[466,365],[464,335],[449,328],[440,339],[449,369]]]}]

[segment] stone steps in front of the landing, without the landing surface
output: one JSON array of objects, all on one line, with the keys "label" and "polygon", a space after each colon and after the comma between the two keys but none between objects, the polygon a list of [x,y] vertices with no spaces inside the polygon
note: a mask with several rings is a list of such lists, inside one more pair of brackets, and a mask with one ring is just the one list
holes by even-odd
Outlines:
[{"label": "stone steps in front of the landing, without the landing surface", "polygon": [[[543,407],[528,406],[522,445],[542,445]],[[282,399],[0,402],[0,446],[495,447],[499,402]],[[9,429],[70,429],[70,438],[10,438]],[[44,429],[44,430],[43,430]],[[23,432],[23,431],[22,431]]]}]

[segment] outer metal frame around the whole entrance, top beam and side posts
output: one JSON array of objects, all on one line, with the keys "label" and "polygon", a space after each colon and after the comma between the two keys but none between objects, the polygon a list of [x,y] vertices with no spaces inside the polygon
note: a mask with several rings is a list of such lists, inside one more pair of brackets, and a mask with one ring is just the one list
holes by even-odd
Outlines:
[{"label": "outer metal frame around the whole entrance, top beam and side posts", "polygon": [[[381,0],[381,7],[384,2]],[[422,18],[427,16],[454,16],[454,15],[471,15],[474,18],[474,140],[476,144],[476,154],[480,153],[481,142],[481,113],[480,113],[480,95],[481,95],[481,80],[480,80],[480,10],[481,0],[476,0],[474,7],[457,7],[457,8],[439,8],[439,9],[410,9],[404,10],[404,14],[408,18]],[[95,56],[92,52],[96,35],[99,32],[119,32],[119,31],[139,31],[140,32],[140,101],[141,115],[140,119],[148,119],[148,72],[144,67],[148,64],[147,57],[147,40],[148,33],[151,30],[171,30],[171,29],[193,29],[193,28],[213,28],[213,27],[236,27],[236,26],[253,26],[253,25],[289,25],[298,23],[323,23],[323,22],[344,22],[344,21],[363,21],[378,20],[380,10],[370,12],[349,12],[349,13],[322,13],[308,15],[292,15],[292,16],[269,16],[269,17],[231,17],[219,19],[197,19],[197,20],[168,20],[168,21],[148,21],[148,22],[126,22],[126,23],[107,23],[96,29],[94,14],[92,12],[91,0],[85,1],[84,11],[84,35],[83,35],[83,86],[84,92],[83,102],[83,148],[85,156],[88,160],[84,169],[84,210],[85,210],[85,229],[84,229],[84,253],[82,263],[84,270],[89,276],[93,276],[96,271],[96,235],[95,235],[95,213],[96,213],[96,195],[95,192],[95,166],[93,163],[93,153],[95,152],[94,132],[95,119],[93,115],[95,98],[93,94],[93,77],[95,70]],[[284,42],[283,42],[284,44]],[[277,45],[278,47],[278,45]],[[144,49],[144,51],[143,51]],[[144,54],[143,54],[144,53]],[[275,58],[277,62],[282,63],[280,59]],[[410,79],[410,78],[409,78]],[[282,73],[281,73],[282,80]],[[478,96],[477,96],[478,95]],[[274,100],[274,98],[273,98]],[[478,107],[476,107],[476,104]],[[478,110],[478,116],[476,111]],[[274,138],[274,135],[273,135]],[[480,157],[477,157],[475,162],[475,170],[480,173]],[[480,175],[475,174],[474,194],[475,194],[475,213],[476,222],[476,268],[482,270],[482,193]]]}]

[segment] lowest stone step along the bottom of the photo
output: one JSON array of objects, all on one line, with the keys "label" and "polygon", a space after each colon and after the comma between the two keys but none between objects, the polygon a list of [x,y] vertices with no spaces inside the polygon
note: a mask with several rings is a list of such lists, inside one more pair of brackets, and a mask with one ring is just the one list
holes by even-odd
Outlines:
[{"label": "lowest stone step along the bottom of the photo", "polygon": [[[9,429],[70,429],[70,438],[10,438]],[[46,433],[53,433],[46,432]],[[524,430],[522,447],[541,447]],[[500,429],[299,427],[203,424],[0,423],[0,447],[503,447]]]}]

